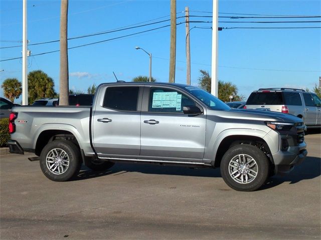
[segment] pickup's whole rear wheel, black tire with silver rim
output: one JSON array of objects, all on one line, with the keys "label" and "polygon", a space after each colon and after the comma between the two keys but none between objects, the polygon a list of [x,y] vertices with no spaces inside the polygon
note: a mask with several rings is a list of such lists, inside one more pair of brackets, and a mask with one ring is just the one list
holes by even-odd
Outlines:
[{"label": "pickup's whole rear wheel, black tire with silver rim", "polygon": [[54,140],[41,151],[40,167],[50,180],[68,181],[78,174],[80,166],[80,150],[71,141]]}]

